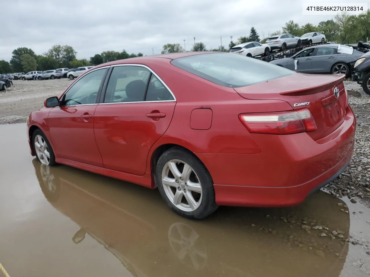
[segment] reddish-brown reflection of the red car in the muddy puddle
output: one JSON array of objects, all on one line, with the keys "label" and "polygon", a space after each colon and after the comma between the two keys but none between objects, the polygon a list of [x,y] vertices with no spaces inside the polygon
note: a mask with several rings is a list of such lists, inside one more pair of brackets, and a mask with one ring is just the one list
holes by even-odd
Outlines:
[{"label": "reddish-brown reflection of the red car in the muddy puddle", "polygon": [[[348,252],[349,214],[323,192],[294,208],[224,207],[192,221],[151,189],[36,159],[33,165],[50,204],[80,226],[71,243],[91,236],[133,276],[339,276]],[[332,230],[344,238],[332,239]]]}]

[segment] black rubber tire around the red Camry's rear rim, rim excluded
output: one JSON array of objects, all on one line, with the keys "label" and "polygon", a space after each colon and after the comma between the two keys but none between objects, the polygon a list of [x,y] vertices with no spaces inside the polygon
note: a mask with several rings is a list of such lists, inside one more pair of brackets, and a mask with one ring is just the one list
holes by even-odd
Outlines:
[{"label": "black rubber tire around the red Camry's rear rim, rim excluded", "polygon": [[[181,160],[187,163],[195,171],[202,186],[202,202],[198,209],[193,212],[185,212],[176,208],[168,199],[164,188],[162,186],[162,169],[170,160]],[[182,148],[171,148],[159,157],[157,167],[155,169],[155,181],[158,185],[159,192],[167,205],[176,214],[189,219],[203,219],[213,213],[218,206],[216,205],[215,190],[213,188],[213,181],[211,175],[205,166],[199,161],[194,154],[189,153]]]}]

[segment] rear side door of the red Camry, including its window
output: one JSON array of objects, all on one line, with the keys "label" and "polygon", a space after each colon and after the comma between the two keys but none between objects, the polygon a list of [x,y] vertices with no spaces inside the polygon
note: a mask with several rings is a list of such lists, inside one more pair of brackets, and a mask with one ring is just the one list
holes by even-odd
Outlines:
[{"label": "rear side door of the red Camry, including its window", "polygon": [[104,167],[144,175],[150,148],[171,122],[172,92],[145,66],[117,65],[101,102],[94,132]]}]

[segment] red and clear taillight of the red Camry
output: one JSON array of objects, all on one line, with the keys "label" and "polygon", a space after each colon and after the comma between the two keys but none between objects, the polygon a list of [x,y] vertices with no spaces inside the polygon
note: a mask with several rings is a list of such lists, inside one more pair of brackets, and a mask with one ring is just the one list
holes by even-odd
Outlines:
[{"label": "red and clear taillight of the red Camry", "polygon": [[250,133],[296,134],[316,131],[316,123],[308,109],[290,112],[240,114],[240,121]]}]

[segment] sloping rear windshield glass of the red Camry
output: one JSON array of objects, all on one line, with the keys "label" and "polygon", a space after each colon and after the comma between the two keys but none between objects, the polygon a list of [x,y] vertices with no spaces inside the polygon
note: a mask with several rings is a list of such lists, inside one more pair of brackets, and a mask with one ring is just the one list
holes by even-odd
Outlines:
[{"label": "sloping rear windshield glass of the red Camry", "polygon": [[254,58],[229,53],[177,58],[171,64],[220,86],[239,88],[296,74],[294,71]]}]

